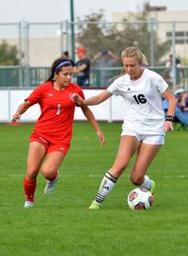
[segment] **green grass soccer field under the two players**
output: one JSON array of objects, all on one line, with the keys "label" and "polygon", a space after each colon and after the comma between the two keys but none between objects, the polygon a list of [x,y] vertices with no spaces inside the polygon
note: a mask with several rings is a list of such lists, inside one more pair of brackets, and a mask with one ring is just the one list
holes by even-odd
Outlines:
[{"label": "green grass soccer field under the two players", "polygon": [[121,124],[101,124],[102,147],[87,123],[75,123],[71,149],[55,194],[45,196],[39,174],[35,208],[26,210],[23,179],[33,125],[0,125],[0,255],[188,255],[188,132],[166,135],[149,168],[154,206],[131,211],[130,166],[97,212],[88,211],[118,150]]}]

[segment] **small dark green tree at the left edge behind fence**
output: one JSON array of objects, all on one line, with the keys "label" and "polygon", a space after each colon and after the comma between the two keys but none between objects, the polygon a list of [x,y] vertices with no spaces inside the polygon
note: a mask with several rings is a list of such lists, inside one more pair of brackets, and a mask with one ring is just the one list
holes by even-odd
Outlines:
[{"label": "small dark green tree at the left edge behind fence", "polygon": [[9,45],[6,40],[0,44],[0,65],[18,65],[18,48],[16,45]]}]

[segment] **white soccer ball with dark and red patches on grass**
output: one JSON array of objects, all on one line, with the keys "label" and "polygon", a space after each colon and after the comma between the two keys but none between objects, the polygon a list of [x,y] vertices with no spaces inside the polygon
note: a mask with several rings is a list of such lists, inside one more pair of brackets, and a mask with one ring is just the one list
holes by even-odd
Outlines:
[{"label": "white soccer ball with dark and red patches on grass", "polygon": [[128,205],[132,210],[148,210],[153,205],[153,196],[143,187],[133,189],[128,198]]}]

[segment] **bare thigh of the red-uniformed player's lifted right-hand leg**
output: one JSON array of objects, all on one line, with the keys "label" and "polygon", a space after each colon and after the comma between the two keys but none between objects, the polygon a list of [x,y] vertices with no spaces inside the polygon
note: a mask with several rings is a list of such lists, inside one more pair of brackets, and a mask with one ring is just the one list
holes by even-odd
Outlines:
[{"label": "bare thigh of the red-uniformed player's lifted right-hand leg", "polygon": [[59,151],[52,151],[47,154],[45,161],[41,166],[43,175],[54,174],[64,160],[64,155]]}]

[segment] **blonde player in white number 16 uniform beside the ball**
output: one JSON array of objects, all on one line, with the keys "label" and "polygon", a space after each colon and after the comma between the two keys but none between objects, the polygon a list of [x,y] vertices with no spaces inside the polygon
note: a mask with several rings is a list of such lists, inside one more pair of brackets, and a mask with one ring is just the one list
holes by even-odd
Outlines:
[{"label": "blonde player in white number 16 uniform beside the ball", "polygon": [[[137,154],[130,178],[133,184],[154,193],[155,182],[146,173],[149,164],[164,145],[165,132],[173,129],[177,101],[164,78],[143,67],[143,56],[141,50],[134,46],[126,48],[121,54],[124,65],[124,74],[121,77],[101,94],[86,100],[79,95],[74,96],[77,104],[91,106],[102,103],[113,94],[120,95],[126,106],[116,161],[104,175],[90,210],[100,209],[103,200],[112,191],[135,152]],[[162,96],[168,101],[166,116]]]}]

